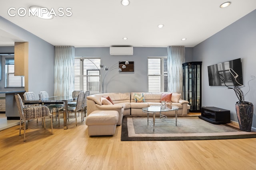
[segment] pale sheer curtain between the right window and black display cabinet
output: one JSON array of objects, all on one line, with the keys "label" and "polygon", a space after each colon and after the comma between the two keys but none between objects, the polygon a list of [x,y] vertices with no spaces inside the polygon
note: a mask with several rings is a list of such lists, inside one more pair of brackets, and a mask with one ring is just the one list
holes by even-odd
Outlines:
[{"label": "pale sheer curtain between the right window and black display cabinet", "polygon": [[180,93],[183,97],[182,63],[185,63],[184,46],[167,47],[168,92]]}]

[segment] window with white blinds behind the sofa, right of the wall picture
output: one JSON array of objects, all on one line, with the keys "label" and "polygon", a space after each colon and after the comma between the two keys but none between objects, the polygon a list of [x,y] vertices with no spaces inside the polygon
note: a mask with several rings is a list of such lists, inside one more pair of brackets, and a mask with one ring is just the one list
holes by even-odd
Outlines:
[{"label": "window with white blinds behind the sofa, right of the wall picture", "polygon": [[148,58],[148,92],[167,92],[167,57]]}]

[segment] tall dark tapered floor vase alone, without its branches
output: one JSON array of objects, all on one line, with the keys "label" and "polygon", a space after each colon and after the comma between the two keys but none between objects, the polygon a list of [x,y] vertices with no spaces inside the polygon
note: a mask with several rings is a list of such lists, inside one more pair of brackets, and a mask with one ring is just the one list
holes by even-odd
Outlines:
[{"label": "tall dark tapered floor vase alone, without its branches", "polygon": [[250,132],[252,128],[253,104],[236,102],[236,115],[241,131]]}]

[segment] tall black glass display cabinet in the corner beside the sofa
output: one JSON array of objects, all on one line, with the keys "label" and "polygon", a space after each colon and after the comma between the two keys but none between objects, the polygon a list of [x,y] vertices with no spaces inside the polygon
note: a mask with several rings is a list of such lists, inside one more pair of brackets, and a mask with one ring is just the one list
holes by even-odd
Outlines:
[{"label": "tall black glass display cabinet in the corner beside the sofa", "polygon": [[183,63],[183,99],[189,102],[190,112],[201,112],[202,62]]}]

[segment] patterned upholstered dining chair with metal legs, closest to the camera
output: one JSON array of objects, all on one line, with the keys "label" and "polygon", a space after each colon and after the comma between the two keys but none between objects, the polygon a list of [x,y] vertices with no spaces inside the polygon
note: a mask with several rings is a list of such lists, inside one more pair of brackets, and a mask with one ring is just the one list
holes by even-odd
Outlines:
[{"label": "patterned upholstered dining chair with metal legs, closest to the camera", "polygon": [[[26,141],[26,121],[37,119],[37,118],[43,118],[44,119],[44,129],[45,128],[45,117],[51,118],[51,126],[52,126],[52,114],[50,113],[50,109],[44,105],[42,106],[32,106],[27,107],[26,105],[23,105],[22,99],[19,94],[14,94],[15,100],[18,107],[18,112],[20,115],[20,135],[21,135],[21,124],[22,120],[24,121],[24,139],[23,141]],[[31,106],[31,105],[30,105]]]}]

